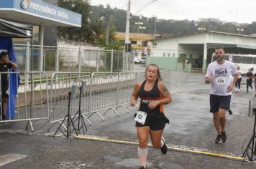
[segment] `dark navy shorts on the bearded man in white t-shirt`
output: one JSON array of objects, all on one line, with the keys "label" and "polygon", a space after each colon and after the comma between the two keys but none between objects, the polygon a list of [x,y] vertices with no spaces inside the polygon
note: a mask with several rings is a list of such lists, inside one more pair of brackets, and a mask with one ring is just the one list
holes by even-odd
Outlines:
[{"label": "dark navy shorts on the bearded man in white t-shirt", "polygon": [[218,112],[219,109],[229,110],[231,95],[219,96],[210,95],[210,112]]}]

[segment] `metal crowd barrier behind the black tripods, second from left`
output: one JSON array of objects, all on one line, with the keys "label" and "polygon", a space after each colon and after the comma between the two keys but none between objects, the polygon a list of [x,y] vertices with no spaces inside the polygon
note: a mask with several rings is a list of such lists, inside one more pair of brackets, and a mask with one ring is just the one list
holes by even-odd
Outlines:
[{"label": "metal crowd barrier behind the black tripods, second from left", "polygon": [[[86,80],[90,85],[91,73],[79,72],[55,72],[50,82],[50,123],[60,122],[64,119],[68,110],[68,92],[72,84],[76,84],[76,97],[70,102],[70,115],[73,117],[78,111],[78,95],[81,80]],[[82,94],[82,112],[88,112],[89,87]],[[87,119],[86,119],[87,120]],[[91,122],[88,120],[91,124]]]}]

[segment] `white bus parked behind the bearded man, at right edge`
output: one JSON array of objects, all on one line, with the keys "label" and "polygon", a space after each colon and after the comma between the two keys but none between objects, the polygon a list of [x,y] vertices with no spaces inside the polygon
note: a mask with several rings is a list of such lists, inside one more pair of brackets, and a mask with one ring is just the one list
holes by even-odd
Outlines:
[{"label": "white bus parked behind the bearded man, at right edge", "polygon": [[[225,59],[233,62],[236,66],[240,66],[244,74],[248,72],[248,69],[256,69],[256,55],[254,54],[225,54]],[[215,57],[212,54],[211,62],[214,61]]]}]

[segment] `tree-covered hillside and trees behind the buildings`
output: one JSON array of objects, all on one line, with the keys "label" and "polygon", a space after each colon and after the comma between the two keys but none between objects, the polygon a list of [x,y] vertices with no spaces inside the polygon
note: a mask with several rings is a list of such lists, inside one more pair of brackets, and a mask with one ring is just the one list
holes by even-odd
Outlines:
[{"label": "tree-covered hillside and trees behind the buildings", "polygon": [[[126,11],[123,9],[111,8],[111,6],[91,6],[89,0],[66,1],[59,0],[58,5],[82,14],[81,28],[59,28],[58,36],[65,39],[73,39],[80,42],[88,42],[97,46],[104,46],[104,35],[106,33],[106,22],[110,24],[109,45],[115,45],[114,32],[125,32]],[[156,26],[155,26],[156,21]],[[180,36],[198,32],[198,28],[206,28],[211,31],[229,32],[237,34],[237,29],[243,29],[241,34],[255,34],[256,22],[242,24],[236,22],[221,21],[219,19],[198,19],[174,20],[156,19],[155,17],[145,17],[131,15],[130,32],[138,32],[138,25],[135,22],[142,22],[146,27],[144,33]]]}]

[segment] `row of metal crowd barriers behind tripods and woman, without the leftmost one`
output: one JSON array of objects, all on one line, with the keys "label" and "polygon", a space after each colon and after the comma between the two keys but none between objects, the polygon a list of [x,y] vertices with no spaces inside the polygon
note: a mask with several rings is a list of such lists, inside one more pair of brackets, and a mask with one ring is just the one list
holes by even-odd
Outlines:
[{"label": "row of metal crowd barriers behind tripods and woman, without the leftmost one", "polygon": [[[181,71],[164,70],[162,77],[168,89],[174,93],[182,90],[181,84],[186,79],[186,74]],[[81,79],[86,80],[86,92],[82,95],[81,111],[88,123],[90,118],[98,115],[101,120],[107,112],[120,116],[121,111],[129,113],[129,101],[134,89],[134,84],[145,79],[145,72],[94,72],[94,73],[55,73],[52,74],[50,92],[50,122],[60,122],[64,119],[68,106],[68,92],[72,84],[81,86]],[[73,117],[78,111],[78,95],[71,102],[70,115]]]}]

